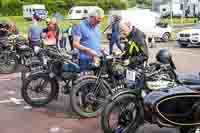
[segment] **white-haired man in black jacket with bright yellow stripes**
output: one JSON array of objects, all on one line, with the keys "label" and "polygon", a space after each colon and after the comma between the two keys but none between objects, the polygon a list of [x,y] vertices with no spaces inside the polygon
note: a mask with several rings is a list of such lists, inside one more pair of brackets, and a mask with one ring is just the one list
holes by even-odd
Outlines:
[{"label": "white-haired man in black jacket with bright yellow stripes", "polygon": [[148,60],[145,34],[129,21],[122,22],[120,29],[127,40],[122,58],[129,59],[130,65],[144,64]]}]

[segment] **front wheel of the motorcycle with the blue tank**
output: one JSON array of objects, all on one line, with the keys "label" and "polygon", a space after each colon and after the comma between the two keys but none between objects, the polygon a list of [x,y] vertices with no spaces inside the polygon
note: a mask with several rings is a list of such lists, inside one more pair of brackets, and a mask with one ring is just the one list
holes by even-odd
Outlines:
[{"label": "front wheel of the motorcycle with the blue tank", "polygon": [[[33,81],[38,81],[34,83]],[[49,86],[48,86],[49,85]],[[47,88],[45,88],[47,87]],[[34,92],[35,97],[30,96],[29,91]],[[47,105],[58,96],[59,86],[55,79],[51,79],[46,73],[30,75],[21,89],[22,98],[33,107]],[[45,94],[42,95],[42,94]]]}]

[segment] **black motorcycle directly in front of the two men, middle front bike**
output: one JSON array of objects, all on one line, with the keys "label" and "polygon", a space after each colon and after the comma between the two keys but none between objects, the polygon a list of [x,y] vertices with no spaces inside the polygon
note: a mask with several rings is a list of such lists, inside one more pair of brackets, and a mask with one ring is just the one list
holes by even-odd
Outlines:
[{"label": "black motorcycle directly in front of the two men, middle front bike", "polygon": [[78,82],[70,93],[74,111],[82,117],[95,117],[102,110],[106,99],[124,88],[122,60],[104,54],[94,63],[93,76]]}]

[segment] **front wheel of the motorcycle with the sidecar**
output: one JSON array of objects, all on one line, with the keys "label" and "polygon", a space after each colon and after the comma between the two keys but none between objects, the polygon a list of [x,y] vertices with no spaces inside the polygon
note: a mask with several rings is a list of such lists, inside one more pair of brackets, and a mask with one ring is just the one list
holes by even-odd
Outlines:
[{"label": "front wheel of the motorcycle with the sidecar", "polygon": [[[100,115],[101,128],[104,133],[134,133],[143,123],[142,110],[142,105],[134,95],[121,95],[107,104],[102,111]],[[117,115],[119,116],[117,117]],[[112,125],[110,122],[114,124]]]}]

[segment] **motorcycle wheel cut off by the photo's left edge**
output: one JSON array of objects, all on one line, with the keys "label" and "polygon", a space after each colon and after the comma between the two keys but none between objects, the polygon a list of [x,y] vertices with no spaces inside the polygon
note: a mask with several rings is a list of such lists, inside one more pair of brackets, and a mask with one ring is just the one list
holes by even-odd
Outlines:
[{"label": "motorcycle wheel cut off by the photo's left edge", "polygon": [[10,74],[15,72],[17,68],[16,57],[12,54],[1,54],[0,55],[0,73]]}]

